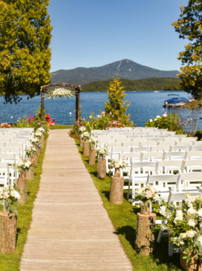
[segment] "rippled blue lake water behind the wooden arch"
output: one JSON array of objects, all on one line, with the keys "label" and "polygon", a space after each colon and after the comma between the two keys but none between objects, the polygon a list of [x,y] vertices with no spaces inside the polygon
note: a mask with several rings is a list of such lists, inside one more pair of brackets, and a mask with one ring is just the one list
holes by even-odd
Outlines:
[{"label": "rippled blue lake water behind the wooden arch", "polygon": [[[145,122],[157,115],[162,115],[163,112],[170,112],[170,110],[163,111],[163,103],[168,99],[168,94],[178,94],[181,97],[190,98],[190,94],[180,91],[154,91],[147,92],[126,92],[125,100],[130,102],[127,113],[130,114],[130,119],[137,126],[144,126]],[[0,97],[0,122],[14,123],[18,118],[24,115],[29,117],[29,114],[34,115],[34,111],[40,105],[40,97],[36,96],[27,100],[27,96],[21,96],[22,100],[16,104],[4,104],[4,97]],[[44,99],[45,110],[51,114],[51,118],[56,118],[57,124],[72,124],[75,119],[75,98],[54,100]],[[105,101],[108,101],[107,92],[99,93],[81,93],[80,104],[82,105],[82,117],[88,118],[91,112],[95,115],[100,114],[100,110],[105,109]],[[12,118],[13,117],[13,118]],[[198,128],[202,128],[202,120],[199,120]]]}]

